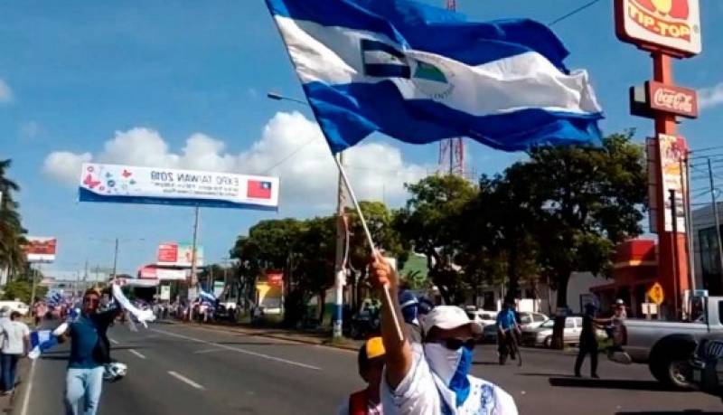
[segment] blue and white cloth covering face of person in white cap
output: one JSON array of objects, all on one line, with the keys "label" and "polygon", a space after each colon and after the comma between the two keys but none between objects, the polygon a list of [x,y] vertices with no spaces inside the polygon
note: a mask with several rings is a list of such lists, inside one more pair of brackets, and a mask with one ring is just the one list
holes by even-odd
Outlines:
[{"label": "blue and white cloth covering face of person in white cap", "polygon": [[456,406],[461,406],[469,396],[470,383],[467,374],[472,367],[472,351],[466,347],[449,350],[442,344],[427,343],[424,345],[424,352],[432,372],[455,392]]}]

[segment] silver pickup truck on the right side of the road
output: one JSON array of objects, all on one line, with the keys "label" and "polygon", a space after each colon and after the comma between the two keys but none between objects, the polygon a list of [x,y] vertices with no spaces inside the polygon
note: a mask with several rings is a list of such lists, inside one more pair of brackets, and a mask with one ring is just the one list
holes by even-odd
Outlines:
[{"label": "silver pickup truck on the right side of the road", "polygon": [[723,297],[691,297],[688,321],[626,319],[624,351],[633,363],[647,363],[653,377],[679,389],[690,389],[690,359],[698,340],[723,333]]}]

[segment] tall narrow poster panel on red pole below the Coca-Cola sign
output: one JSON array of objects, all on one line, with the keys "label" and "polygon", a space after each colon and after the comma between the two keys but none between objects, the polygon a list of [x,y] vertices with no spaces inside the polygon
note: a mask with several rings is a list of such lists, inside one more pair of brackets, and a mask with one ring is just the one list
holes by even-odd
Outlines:
[{"label": "tall narrow poster panel on red pole below the Coca-Cola sign", "polygon": [[662,198],[665,212],[665,231],[672,231],[671,190],[675,191],[676,231],[685,233],[685,198],[683,191],[687,183],[681,161],[688,153],[688,144],[683,137],[658,135],[662,167]]}]

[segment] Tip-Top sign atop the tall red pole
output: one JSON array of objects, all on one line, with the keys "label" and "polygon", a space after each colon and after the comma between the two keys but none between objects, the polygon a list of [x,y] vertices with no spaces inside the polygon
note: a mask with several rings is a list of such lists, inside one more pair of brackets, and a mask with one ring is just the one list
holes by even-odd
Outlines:
[{"label": "Tip-Top sign atop the tall red pole", "polygon": [[702,50],[699,0],[615,0],[615,33],[643,49],[697,55]]}]

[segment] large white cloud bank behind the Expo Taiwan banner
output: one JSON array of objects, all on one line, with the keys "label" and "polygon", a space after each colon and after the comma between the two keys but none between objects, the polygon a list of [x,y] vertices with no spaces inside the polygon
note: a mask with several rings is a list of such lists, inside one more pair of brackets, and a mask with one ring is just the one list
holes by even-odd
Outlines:
[{"label": "large white cloud bank behind the Expo Taiwan banner", "polygon": [[[345,157],[354,190],[364,200],[401,203],[406,196],[404,184],[427,174],[425,166],[405,164],[399,148],[388,144],[354,146]],[[76,163],[72,168],[77,166],[72,174],[52,174],[70,184],[77,181],[78,160],[92,158],[101,163],[277,175],[281,178],[282,206],[327,208],[335,200],[337,171],[329,147],[318,125],[298,112],[277,113],[258,141],[239,154],[229,153],[221,140],[202,133],[188,137],[181,151],[174,152],[157,131],[136,127],[117,131],[95,157],[89,153],[52,153],[45,160],[44,170],[58,169],[48,165],[70,168],[71,158]]]}]

